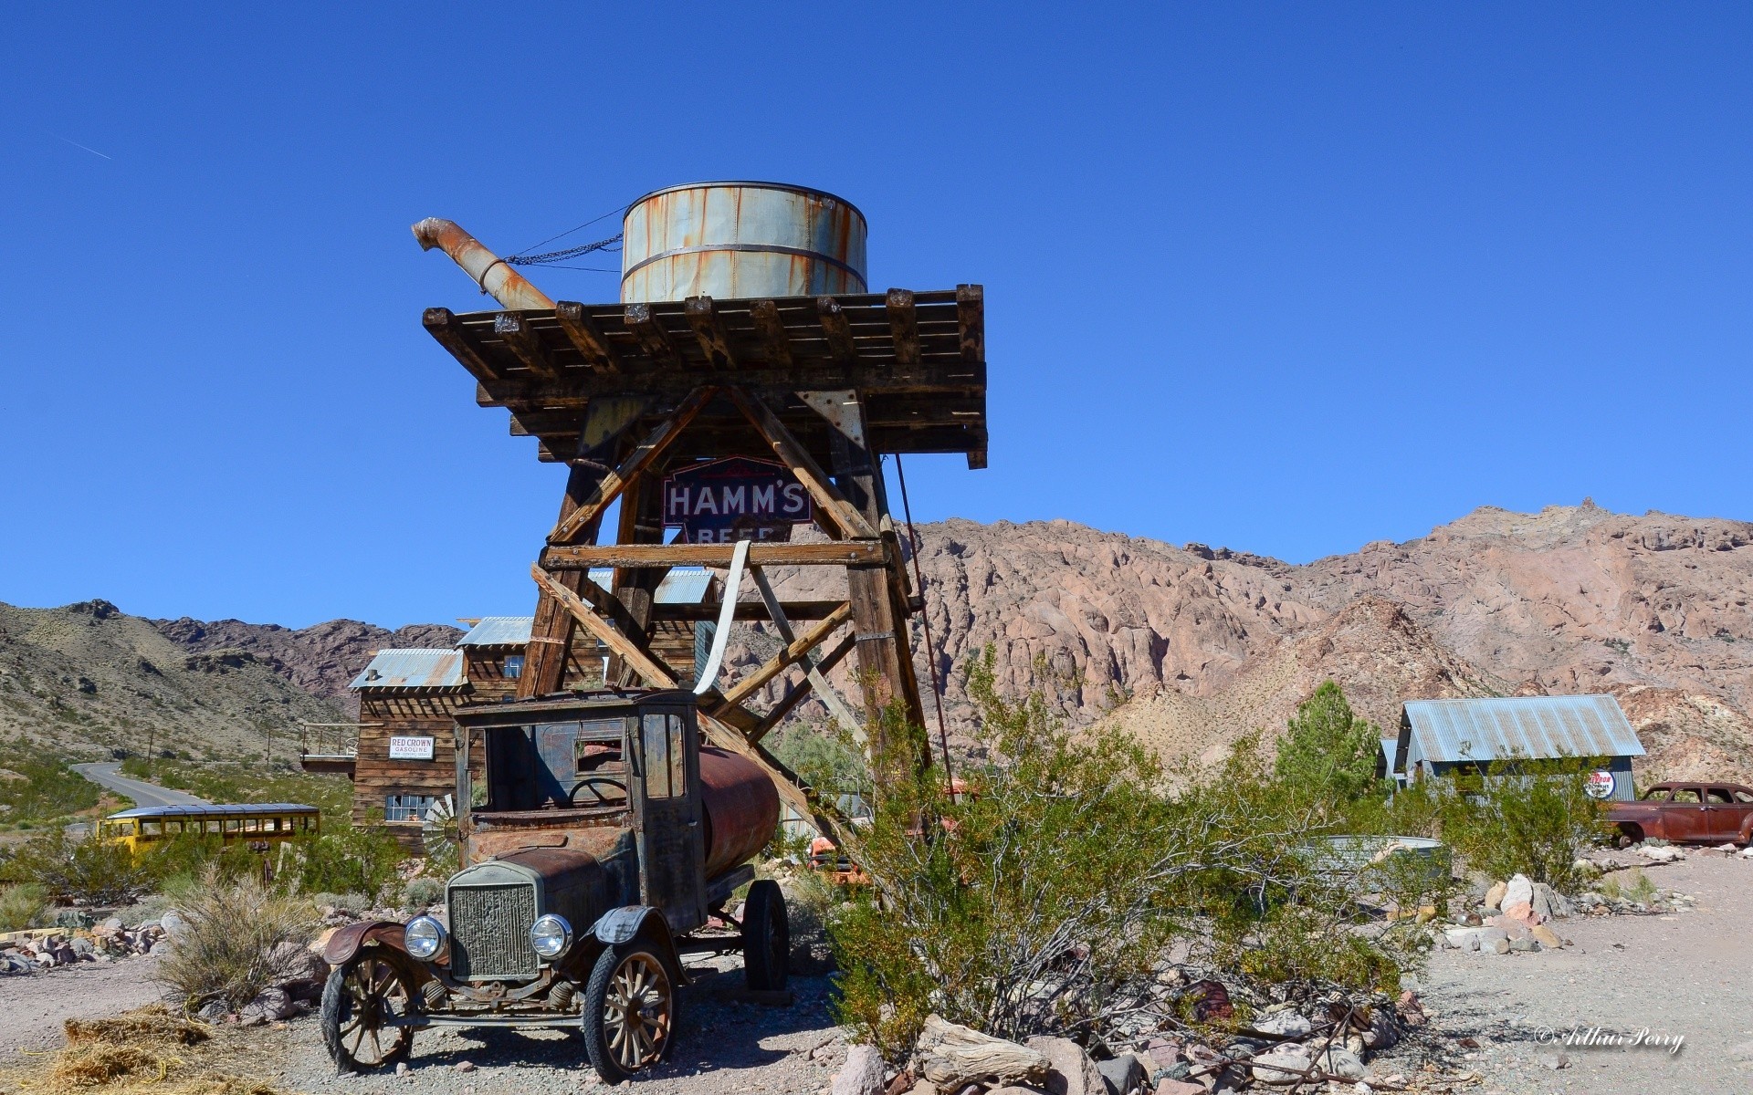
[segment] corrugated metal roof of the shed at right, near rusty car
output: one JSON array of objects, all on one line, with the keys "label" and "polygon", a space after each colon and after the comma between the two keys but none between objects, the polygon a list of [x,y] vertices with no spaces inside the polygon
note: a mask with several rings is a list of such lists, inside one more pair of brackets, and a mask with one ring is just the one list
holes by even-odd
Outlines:
[{"label": "corrugated metal roof of the shed at right, near rusty car", "polygon": [[1401,720],[1402,767],[1411,743],[1437,764],[1644,755],[1637,731],[1611,696],[1411,699]]}]

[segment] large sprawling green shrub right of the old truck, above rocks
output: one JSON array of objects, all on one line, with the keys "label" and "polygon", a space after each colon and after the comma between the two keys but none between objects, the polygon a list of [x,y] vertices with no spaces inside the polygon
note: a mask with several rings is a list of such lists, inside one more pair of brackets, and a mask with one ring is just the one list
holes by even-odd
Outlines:
[{"label": "large sprawling green shrub right of the old truck, above rocks", "polygon": [[1167,795],[1136,739],[999,696],[992,664],[968,669],[989,757],[957,771],[971,794],[878,759],[891,778],[847,836],[873,887],[829,916],[840,1021],[891,1056],[933,1011],[999,1037],[1101,1037],[1148,1006],[1171,944],[1243,976],[1392,983],[1390,955],[1341,937],[1350,906],[1299,853],[1317,818],[1269,792],[1257,738]]}]

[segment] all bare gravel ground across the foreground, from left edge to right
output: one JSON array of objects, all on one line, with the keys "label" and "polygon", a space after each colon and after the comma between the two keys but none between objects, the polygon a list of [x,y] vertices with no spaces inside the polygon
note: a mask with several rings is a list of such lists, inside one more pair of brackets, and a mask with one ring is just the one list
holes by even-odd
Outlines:
[{"label": "all bare gravel ground across the foreground, from left edge to right", "polygon": [[[1576,946],[1511,955],[1437,951],[1420,978],[1434,1013],[1425,1032],[1371,1062],[1373,1077],[1422,1077],[1436,1060],[1481,1095],[1753,1090],[1753,862],[1692,851],[1648,865],[1665,888],[1697,897],[1697,911],[1557,922]],[[112,1014],[156,999],[153,960],[79,965],[0,979],[0,1063],[60,1042],[67,1016]],[[827,1018],[827,978],[792,978],[796,1004],[763,1007],[717,999],[742,983],[736,958],[692,967],[682,990],[680,1041],[670,1065],[638,1081],[650,1095],[815,1095],[845,1058]],[[1681,1035],[1665,1046],[1564,1044],[1572,1032]],[[415,1035],[408,1076],[338,1077],[314,1018],[247,1032],[259,1079],[286,1091],[361,1095],[561,1095],[603,1088],[575,1034],[445,1030]],[[1478,1046],[1464,1044],[1473,1039]],[[1604,1041],[1600,1037],[1597,1042]],[[459,1070],[468,1062],[472,1070]],[[1553,1067],[1562,1062],[1564,1067]]]}]

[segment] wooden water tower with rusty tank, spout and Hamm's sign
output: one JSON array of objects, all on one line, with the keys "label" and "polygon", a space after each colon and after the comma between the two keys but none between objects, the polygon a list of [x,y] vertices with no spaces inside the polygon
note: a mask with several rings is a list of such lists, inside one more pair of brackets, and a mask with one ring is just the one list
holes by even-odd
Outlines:
[{"label": "wooden water tower with rusty tank, spout and Hamm's sign", "polygon": [[[898,741],[894,720],[878,718],[899,704],[903,734],[924,727],[908,639],[920,599],[882,457],[961,452],[985,466],[980,286],[868,293],[864,215],[766,182],[678,186],[628,207],[622,300],[608,305],[547,298],[449,221],[414,231],[505,308],[428,308],[426,329],[475,377],[477,403],[508,408],[514,434],[571,468],[531,568],[538,599],[519,694],[559,690],[578,629],[608,648],[610,683],[685,687],[692,673],[652,650],[656,624],[764,620],[785,646],[742,680],[696,689],[715,745],[759,760],[806,816],[806,788],[761,739],[812,690],[855,734],[875,731],[873,757],[929,764],[922,738]],[[791,543],[801,510],[827,543]],[[680,529],[668,543],[666,527]],[[673,566],[722,568],[738,583],[745,568],[759,599],[738,603],[731,585],[717,606],[657,604]],[[780,601],[766,566],[843,568],[845,594]],[[587,580],[591,568],[612,568],[607,590]],[[826,680],[848,655],[862,711]],[[771,710],[750,710],[791,666],[803,680]]]}]

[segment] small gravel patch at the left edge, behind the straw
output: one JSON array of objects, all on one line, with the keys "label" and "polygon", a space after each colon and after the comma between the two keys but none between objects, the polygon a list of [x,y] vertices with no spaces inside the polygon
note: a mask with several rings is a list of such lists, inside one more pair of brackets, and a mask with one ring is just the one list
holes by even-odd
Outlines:
[{"label": "small gravel patch at the left edge, behind the straw", "polygon": [[35,974],[0,978],[0,1067],[30,1051],[61,1046],[61,1020],[93,1020],[153,1004],[158,958],[81,962]]}]

